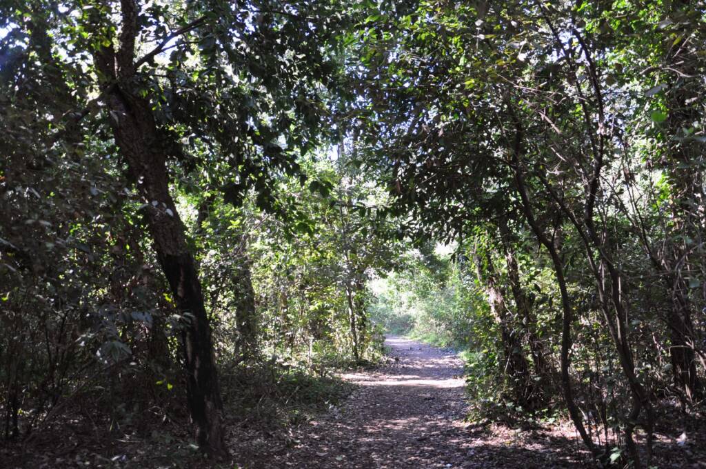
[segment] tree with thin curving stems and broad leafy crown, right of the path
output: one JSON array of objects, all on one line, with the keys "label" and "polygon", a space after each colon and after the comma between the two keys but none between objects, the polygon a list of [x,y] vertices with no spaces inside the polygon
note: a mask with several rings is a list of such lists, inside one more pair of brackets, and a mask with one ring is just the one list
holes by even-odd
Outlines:
[{"label": "tree with thin curving stems and broad leafy crown, right of the path", "polygon": [[[645,372],[638,360],[659,362],[661,351],[640,345],[641,330],[631,333],[633,325],[649,323],[652,316],[639,300],[645,284],[628,273],[644,269],[647,259],[624,241],[640,226],[624,194],[641,189],[633,171],[644,129],[635,131],[628,122],[640,118],[636,103],[642,90],[653,95],[662,88],[652,90],[638,73],[622,87],[615,77],[626,68],[621,59],[633,57],[631,47],[662,44],[655,18],[663,13],[626,6],[631,8],[626,18],[612,19],[611,10],[623,7],[594,2],[409,8],[371,8],[352,40],[364,62],[350,74],[364,96],[357,112],[374,155],[369,166],[390,187],[393,210],[409,215],[412,232],[461,239],[474,226],[489,220],[502,226],[497,220],[519,215],[517,235],[534,237],[549,257],[561,296],[566,407],[585,444],[607,461],[608,451],[594,443],[591,424],[576,403],[570,372],[572,351],[579,348],[575,325],[585,320],[580,296],[572,290],[592,292],[591,309],[600,311],[605,333],[597,340],[613,343],[610,360],[620,366],[630,396],[630,401],[614,399],[624,422],[618,431],[628,457],[640,465],[632,435],[635,425],[644,427],[649,465],[652,381],[640,375]],[[647,25],[652,33],[635,35],[635,44],[613,34]],[[652,123],[664,121],[660,112],[650,114]],[[525,226],[530,238],[522,233]],[[649,241],[643,244],[653,249]],[[499,295],[497,281],[479,275],[505,303],[508,295]],[[686,291],[671,284],[670,290]],[[520,304],[526,300],[519,291],[515,298]],[[681,344],[693,343],[684,340],[692,332],[688,315],[680,311],[669,319],[671,330],[681,331],[671,333],[671,340],[688,350]],[[671,355],[674,361],[683,354],[672,349]],[[676,361],[682,370],[694,364],[686,355]],[[694,375],[679,373],[681,382]]]}]

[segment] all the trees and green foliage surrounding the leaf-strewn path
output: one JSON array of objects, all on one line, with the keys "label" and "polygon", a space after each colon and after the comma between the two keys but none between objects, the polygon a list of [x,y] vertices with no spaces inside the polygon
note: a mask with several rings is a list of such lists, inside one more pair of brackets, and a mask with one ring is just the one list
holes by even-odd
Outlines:
[{"label": "all the trees and green foliage surrounding the leaf-strewn path", "polygon": [[386,326],[649,466],[703,412],[705,43],[701,1],[1,1],[2,436],[223,457]]}]

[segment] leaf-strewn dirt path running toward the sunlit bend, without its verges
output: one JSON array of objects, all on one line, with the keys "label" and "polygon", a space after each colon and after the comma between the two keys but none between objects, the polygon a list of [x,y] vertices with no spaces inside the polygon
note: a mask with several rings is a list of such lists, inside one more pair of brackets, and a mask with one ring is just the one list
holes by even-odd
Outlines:
[{"label": "leaf-strewn dirt path running toward the sunlit bend, without its verges", "polygon": [[399,362],[347,376],[361,388],[333,419],[314,423],[309,467],[450,468],[466,456],[460,360],[412,340],[386,345]]}]

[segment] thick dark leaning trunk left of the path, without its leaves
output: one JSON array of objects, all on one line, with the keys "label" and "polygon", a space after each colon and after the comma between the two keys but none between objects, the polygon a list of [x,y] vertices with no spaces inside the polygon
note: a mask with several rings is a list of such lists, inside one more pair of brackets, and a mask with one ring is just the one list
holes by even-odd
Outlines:
[{"label": "thick dark leaning trunk left of the path, without its leaves", "polygon": [[[211,328],[206,313],[196,262],[186,244],[186,230],[169,194],[167,154],[157,129],[150,102],[131,89],[134,75],[134,35],[126,37],[136,21],[123,2],[124,25],[121,50],[103,48],[95,54],[102,74],[105,100],[115,142],[128,163],[140,196],[145,201],[145,218],[177,309],[184,315],[181,340],[186,362],[186,396],[195,425],[196,442],[211,456],[224,456],[221,425],[222,401],[213,357]],[[134,4],[132,3],[134,6]],[[116,84],[112,84],[116,83]]]}]

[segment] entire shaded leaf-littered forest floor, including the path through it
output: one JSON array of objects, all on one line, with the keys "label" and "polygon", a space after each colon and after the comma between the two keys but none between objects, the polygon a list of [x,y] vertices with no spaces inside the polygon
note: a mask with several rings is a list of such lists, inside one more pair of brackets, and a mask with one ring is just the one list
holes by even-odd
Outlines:
[{"label": "entire shaded leaf-littered forest floor, including the path through it", "polygon": [[[172,433],[124,428],[121,437],[109,438],[100,432],[105,422],[72,418],[31,441],[0,446],[0,469],[595,467],[570,422],[468,422],[463,364],[454,352],[399,337],[388,337],[385,345],[386,364],[342,374],[353,391],[328,412],[278,428],[232,415],[227,446],[233,459],[225,464],[198,456],[185,422]],[[655,437],[657,467],[706,469],[703,417],[687,420],[674,406],[666,408]]]}]

